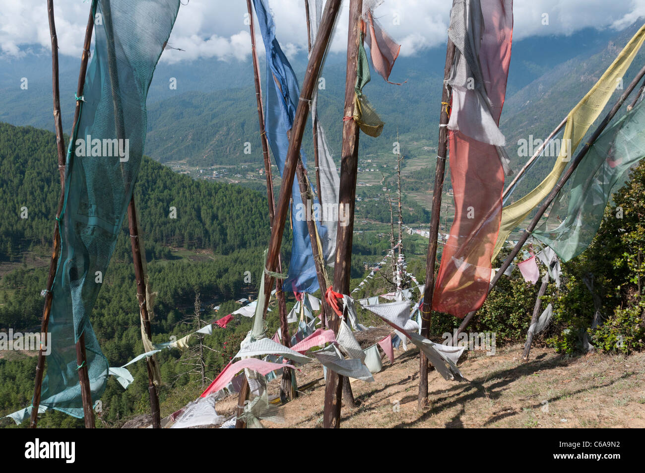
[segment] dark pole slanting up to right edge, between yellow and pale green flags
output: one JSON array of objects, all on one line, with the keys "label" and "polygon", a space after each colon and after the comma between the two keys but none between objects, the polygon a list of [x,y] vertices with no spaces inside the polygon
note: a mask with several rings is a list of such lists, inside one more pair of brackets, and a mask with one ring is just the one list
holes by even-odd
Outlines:
[{"label": "dark pole slanting up to right edge, between yellow and pale green flags", "polygon": [[[568,170],[566,170],[560,182],[551,190],[551,193],[548,195],[548,197],[546,197],[546,200],[544,201],[544,203],[542,203],[542,206],[537,211],[537,214],[535,214],[535,217],[533,217],[533,219],[531,220],[530,225],[528,226],[528,228],[526,228],[526,230],[524,230],[524,233],[522,234],[519,241],[517,242],[517,245],[515,245],[515,248],[513,248],[510,255],[506,257],[506,260],[504,260],[504,263],[502,264],[501,268],[499,268],[499,270],[495,273],[495,276],[493,276],[493,279],[490,282],[490,288],[488,290],[488,294],[490,294],[490,292],[493,290],[495,285],[497,285],[497,281],[499,281],[499,279],[502,277],[502,274],[504,274],[504,271],[508,269],[508,267],[513,262],[513,259],[515,259],[515,256],[517,256],[517,254],[520,252],[522,246],[524,245],[524,243],[526,243],[526,240],[531,235],[531,232],[535,230],[535,227],[537,226],[540,219],[544,215],[544,212],[546,212],[546,209],[549,208],[549,206],[553,202],[553,199],[555,199],[555,196],[557,196],[558,192],[560,192],[561,188],[566,184],[566,182],[573,174],[573,171],[575,171],[575,169],[578,167],[582,159],[586,156],[587,152],[591,148],[591,145],[593,145],[593,143],[598,139],[600,134],[607,127],[607,125],[609,125],[613,116],[615,116],[615,114],[618,112],[622,104],[625,103],[625,101],[627,100],[627,97],[638,85],[640,79],[642,79],[644,76],[645,76],[645,66],[642,69],[640,69],[639,73],[636,75],[636,77],[634,77],[633,81],[631,81],[630,85],[622,93],[618,101],[611,108],[610,112],[604,117],[600,125],[598,125],[598,128],[596,128],[595,132],[593,132],[593,135],[591,135],[587,143],[585,143],[584,146],[582,146],[582,149],[575,157],[575,159],[573,160],[573,163],[571,163],[571,166],[568,168]],[[457,335],[459,335],[461,332],[464,331],[466,327],[468,327],[468,324],[473,319],[473,317],[475,317],[475,314],[477,314],[477,310],[473,310],[472,312],[469,312],[468,315],[464,317],[464,320],[462,321],[461,325],[459,325],[459,328],[457,328]],[[452,343],[454,343],[455,341],[456,341],[456,337],[452,339]]]}]

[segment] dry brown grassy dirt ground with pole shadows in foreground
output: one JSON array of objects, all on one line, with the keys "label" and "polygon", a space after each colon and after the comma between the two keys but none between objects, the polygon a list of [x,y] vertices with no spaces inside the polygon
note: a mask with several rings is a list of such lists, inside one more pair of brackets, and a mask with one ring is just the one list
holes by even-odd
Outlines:
[{"label": "dry brown grassy dirt ground with pole shadows in foreground", "polygon": [[[521,353],[519,345],[494,356],[464,352],[459,368],[470,383],[445,381],[432,370],[429,405],[419,411],[419,350],[395,350],[374,383],[352,380],[357,407],[343,403],[341,427],[645,427],[645,354],[570,357],[533,348],[523,362]],[[263,421],[265,427],[323,426],[321,365],[304,365],[297,379],[300,386],[315,383],[283,406],[284,424]],[[277,394],[279,379],[269,387]],[[235,405],[237,396],[229,396],[217,412],[228,416]]]}]

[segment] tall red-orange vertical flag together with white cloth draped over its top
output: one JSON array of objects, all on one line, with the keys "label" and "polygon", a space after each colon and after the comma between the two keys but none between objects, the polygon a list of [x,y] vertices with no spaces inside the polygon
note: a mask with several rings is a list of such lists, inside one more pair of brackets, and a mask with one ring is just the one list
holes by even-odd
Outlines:
[{"label": "tall red-orange vertical flag together with white cloth draped over its top", "polygon": [[432,308],[464,317],[488,294],[502,209],[497,146],[511,60],[512,0],[455,2],[448,35],[457,47],[448,124],[455,218],[441,257]]}]

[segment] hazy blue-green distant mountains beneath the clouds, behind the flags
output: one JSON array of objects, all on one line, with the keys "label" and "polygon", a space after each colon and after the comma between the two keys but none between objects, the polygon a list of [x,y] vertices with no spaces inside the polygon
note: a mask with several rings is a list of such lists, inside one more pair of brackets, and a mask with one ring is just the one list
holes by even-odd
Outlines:
[{"label": "hazy blue-green distant mountains beneath the clouds, behind the flags", "polygon": [[[526,159],[517,157],[518,139],[530,134],[546,136],[597,81],[639,26],[637,22],[618,33],[587,28],[571,36],[530,37],[513,44],[501,129],[514,168]],[[445,46],[414,57],[399,57],[390,79],[406,81],[401,86],[390,85],[372,72],[372,82],[364,93],[386,127],[376,139],[361,139],[362,154],[391,152],[397,130],[403,152],[406,143],[435,145],[444,57]],[[344,59],[342,54],[326,59],[321,74],[326,87],[319,93],[319,114],[335,156],[339,155],[341,141]],[[643,59],[645,52],[634,61],[624,78],[625,85]],[[49,53],[33,48],[22,59],[5,60],[1,65],[0,121],[53,131]],[[302,80],[306,56],[293,58],[292,65]],[[66,131],[71,128],[78,67],[78,59],[61,56],[61,106]],[[263,66],[261,69],[264,72]],[[21,77],[28,78],[27,90],[20,88]],[[176,79],[176,90],[169,86],[171,77]],[[146,140],[146,154],[153,159],[162,163],[186,159],[199,166],[233,161],[260,163],[257,126],[250,59],[174,65],[162,62],[157,67],[148,96]],[[246,141],[252,143],[251,155],[243,154]],[[310,141],[306,133],[305,150],[310,149]],[[428,151],[428,157],[433,157],[432,152]],[[545,160],[535,172],[549,165]]]}]

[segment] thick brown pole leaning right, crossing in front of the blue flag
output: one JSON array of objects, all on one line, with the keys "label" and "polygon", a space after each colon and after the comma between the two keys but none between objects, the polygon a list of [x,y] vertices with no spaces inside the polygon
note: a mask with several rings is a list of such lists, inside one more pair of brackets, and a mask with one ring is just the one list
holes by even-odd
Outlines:
[{"label": "thick brown pole leaning right, crossing in front of the blue flag", "polygon": [[[324,54],[332,35],[333,25],[341,7],[341,0],[328,0],[325,5],[323,21],[319,28],[316,41],[312,48],[312,54],[309,58],[306,74],[304,75],[303,86],[301,88],[298,107],[295,112],[295,119],[291,130],[291,139],[287,151],[286,160],[283,169],[283,180],[280,186],[280,194],[275,207],[275,217],[273,228],[269,239],[268,256],[266,267],[268,270],[275,272],[277,261],[282,245],[284,225],[286,223],[286,214],[289,207],[289,201],[292,192],[295,169],[297,167],[300,155],[300,146],[303,141],[304,126],[306,125],[307,115],[309,113],[310,101],[312,99],[313,88],[317,84],[317,78],[323,64]],[[263,316],[266,316],[266,308],[269,301],[273,277],[266,274],[264,276],[265,302]]]}]

